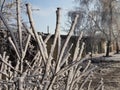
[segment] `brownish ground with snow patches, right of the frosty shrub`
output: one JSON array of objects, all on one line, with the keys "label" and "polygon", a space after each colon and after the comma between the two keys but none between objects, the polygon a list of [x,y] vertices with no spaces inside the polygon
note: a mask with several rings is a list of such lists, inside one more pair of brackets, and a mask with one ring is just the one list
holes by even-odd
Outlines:
[{"label": "brownish ground with snow patches, right of the frosty shrub", "polygon": [[92,87],[97,87],[103,78],[104,90],[120,90],[120,54],[111,53],[110,57],[104,55],[93,56],[93,64],[98,68],[94,71]]}]

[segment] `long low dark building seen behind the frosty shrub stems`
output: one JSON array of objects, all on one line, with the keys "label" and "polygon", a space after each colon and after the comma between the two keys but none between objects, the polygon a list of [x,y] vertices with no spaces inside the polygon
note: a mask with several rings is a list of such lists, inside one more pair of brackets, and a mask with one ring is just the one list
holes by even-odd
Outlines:
[{"label": "long low dark building seen behind the frosty shrub stems", "polygon": [[[43,38],[45,39],[45,37],[47,36],[47,34],[43,35]],[[61,43],[63,45],[63,43],[66,40],[66,35],[61,35]],[[73,48],[71,50],[71,53],[74,53],[74,49],[76,46],[76,41],[77,41],[78,36],[72,36],[70,41],[69,41],[69,45],[68,48],[70,47],[70,45],[73,43]],[[51,48],[51,45],[53,43],[53,39],[54,39],[54,35],[51,36],[50,40],[47,43],[47,47],[48,47],[48,51]],[[84,48],[84,55],[88,54],[89,52],[92,53],[105,53],[106,52],[106,40],[105,38],[102,37],[89,37],[89,36],[83,36],[81,42],[85,42],[85,48]],[[80,43],[81,45],[81,43]],[[111,49],[110,51],[114,51],[115,50],[115,43],[111,44]],[[57,54],[57,47],[55,49],[55,52]]]}]

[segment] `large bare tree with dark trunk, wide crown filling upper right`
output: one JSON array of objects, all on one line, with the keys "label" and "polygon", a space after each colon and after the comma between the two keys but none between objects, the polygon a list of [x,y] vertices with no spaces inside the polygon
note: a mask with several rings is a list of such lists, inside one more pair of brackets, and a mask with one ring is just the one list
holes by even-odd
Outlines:
[{"label": "large bare tree with dark trunk, wide crown filling upper right", "polygon": [[[68,12],[68,17],[70,17],[72,21],[74,14],[79,13],[80,17],[76,27],[76,32],[84,30],[84,33],[87,36],[95,36],[96,34],[103,35],[107,41],[106,56],[109,56],[109,52],[111,51],[111,42],[115,37],[118,38],[119,36],[119,34],[117,36],[115,35],[113,25],[115,26],[116,23],[119,23],[117,17],[114,15],[118,11],[114,12],[114,8],[117,8],[118,10],[119,5],[117,4],[119,4],[118,2],[120,1],[75,0],[75,2],[79,3],[79,5],[74,11]],[[116,23],[115,19],[117,20]],[[117,33],[119,32],[119,27],[116,31]]]}]

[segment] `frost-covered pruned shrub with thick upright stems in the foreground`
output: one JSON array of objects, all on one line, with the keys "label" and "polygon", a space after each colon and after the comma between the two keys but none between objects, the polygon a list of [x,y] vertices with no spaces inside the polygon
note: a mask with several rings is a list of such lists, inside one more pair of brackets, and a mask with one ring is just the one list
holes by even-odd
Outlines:
[{"label": "frost-covered pruned shrub with thick upright stems in the foreground", "polygon": [[[96,67],[83,57],[85,43],[81,33],[77,42],[71,43],[78,15],[72,22],[70,31],[62,43],[60,35],[60,8],[56,11],[55,34],[43,36],[37,33],[29,4],[26,4],[30,28],[20,20],[20,2],[17,2],[17,28],[15,36],[2,13],[0,18],[10,31],[9,53],[0,54],[0,85],[5,90],[82,90],[91,80],[91,73]],[[24,29],[24,30],[22,30]],[[51,40],[52,39],[52,40]],[[18,42],[17,42],[18,41]],[[51,42],[50,42],[51,41]],[[50,43],[49,43],[50,42]],[[76,45],[75,45],[76,44]],[[75,46],[75,47],[74,47]],[[84,80],[84,82],[82,82]],[[103,80],[97,88],[103,89]],[[79,82],[82,82],[81,84]],[[88,90],[92,81],[89,82]],[[0,87],[0,89],[3,89]]]}]

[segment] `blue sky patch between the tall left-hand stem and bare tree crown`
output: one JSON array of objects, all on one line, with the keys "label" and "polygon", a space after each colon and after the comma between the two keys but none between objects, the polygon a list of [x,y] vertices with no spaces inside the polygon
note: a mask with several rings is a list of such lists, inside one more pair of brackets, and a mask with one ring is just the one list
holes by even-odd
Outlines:
[{"label": "blue sky patch between the tall left-hand stem and bare tree crown", "polygon": [[[27,0],[33,9],[33,19],[36,30],[47,33],[47,26],[49,26],[49,33],[54,33],[56,25],[56,10],[61,8],[61,29],[65,26],[67,21],[67,12],[73,9],[74,0]],[[64,34],[65,32],[61,32]]]}]

